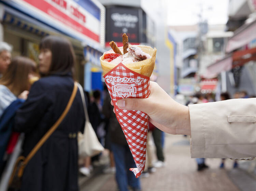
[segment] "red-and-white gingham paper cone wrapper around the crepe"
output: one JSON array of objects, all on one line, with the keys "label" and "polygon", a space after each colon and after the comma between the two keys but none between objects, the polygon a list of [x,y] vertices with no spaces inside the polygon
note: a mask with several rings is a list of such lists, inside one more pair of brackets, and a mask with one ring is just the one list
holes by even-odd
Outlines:
[{"label": "red-and-white gingham paper cone wrapper around the crepe", "polygon": [[120,63],[104,75],[104,80],[114,104],[116,118],[137,166],[130,168],[130,171],[138,178],[145,168],[148,115],[136,110],[122,110],[116,102],[123,98],[147,98],[150,94],[150,78]]}]

